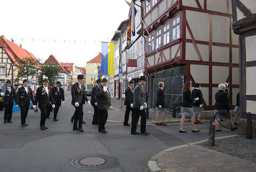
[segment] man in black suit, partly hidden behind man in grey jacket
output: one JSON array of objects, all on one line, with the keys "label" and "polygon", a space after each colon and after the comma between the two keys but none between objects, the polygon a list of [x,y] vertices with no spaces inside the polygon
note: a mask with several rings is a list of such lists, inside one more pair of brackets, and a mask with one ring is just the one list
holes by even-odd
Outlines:
[{"label": "man in black suit, partly hidden behind man in grey jacket", "polygon": [[[126,105],[125,110],[125,116],[124,116],[124,125],[130,125],[128,124],[130,111],[133,113],[133,87],[134,87],[134,81],[129,78],[128,79],[128,87],[125,89],[125,101],[124,105]],[[132,114],[133,115],[133,114]]]}]

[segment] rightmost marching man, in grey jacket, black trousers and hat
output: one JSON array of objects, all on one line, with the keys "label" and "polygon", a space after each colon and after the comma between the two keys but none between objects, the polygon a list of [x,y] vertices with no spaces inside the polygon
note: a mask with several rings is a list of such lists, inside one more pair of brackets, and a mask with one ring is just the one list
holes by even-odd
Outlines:
[{"label": "rightmost marching man, in grey jacket, black trousers and hat", "polygon": [[134,108],[134,115],[132,116],[132,129],[131,134],[139,134],[136,132],[138,120],[141,117],[141,125],[140,125],[140,132],[141,134],[148,135],[146,131],[146,113],[145,109],[147,108],[147,103],[145,103],[145,94],[143,90],[143,85],[146,83],[146,77],[140,76],[139,83],[136,85],[134,89],[134,98],[133,98],[133,108]]}]

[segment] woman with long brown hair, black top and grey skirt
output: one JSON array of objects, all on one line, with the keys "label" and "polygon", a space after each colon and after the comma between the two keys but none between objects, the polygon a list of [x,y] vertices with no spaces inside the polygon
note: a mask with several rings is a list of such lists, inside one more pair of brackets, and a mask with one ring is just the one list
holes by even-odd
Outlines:
[{"label": "woman with long brown hair, black top and grey skirt", "polygon": [[[181,109],[180,109],[180,115],[182,116],[180,118],[180,133],[187,133],[187,131],[184,131],[183,125],[184,125],[184,120],[186,116],[191,117],[191,124],[192,124],[192,132],[198,132],[199,130],[195,128],[195,113],[192,109],[191,103],[194,101],[191,97],[191,82],[185,82],[183,87],[182,87],[182,92],[183,92],[183,101],[181,104]],[[195,98],[195,101],[198,101],[198,97]]]}]

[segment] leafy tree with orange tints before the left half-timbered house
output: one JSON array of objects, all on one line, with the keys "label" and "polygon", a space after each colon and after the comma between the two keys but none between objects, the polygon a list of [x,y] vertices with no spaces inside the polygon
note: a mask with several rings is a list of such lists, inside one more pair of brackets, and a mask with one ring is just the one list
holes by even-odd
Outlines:
[{"label": "leafy tree with orange tints before the left half-timbered house", "polygon": [[36,68],[36,65],[38,64],[38,61],[36,59],[26,57],[17,60],[17,62],[19,65],[16,66],[18,68],[18,74],[15,82],[19,82],[22,78],[29,79],[29,76],[31,76],[30,79],[33,79],[37,75],[38,68]]}]

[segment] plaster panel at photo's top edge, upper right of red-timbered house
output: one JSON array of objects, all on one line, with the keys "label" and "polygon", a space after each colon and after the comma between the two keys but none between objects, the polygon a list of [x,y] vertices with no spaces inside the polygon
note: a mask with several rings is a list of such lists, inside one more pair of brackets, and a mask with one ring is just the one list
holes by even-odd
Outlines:
[{"label": "plaster panel at photo's top edge, upper right of red-timbered house", "polygon": [[[190,0],[188,0],[188,1],[190,1]],[[225,1],[225,0],[207,0],[207,10],[226,13],[227,12],[227,1]]]}]

